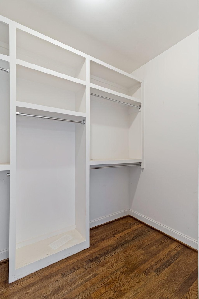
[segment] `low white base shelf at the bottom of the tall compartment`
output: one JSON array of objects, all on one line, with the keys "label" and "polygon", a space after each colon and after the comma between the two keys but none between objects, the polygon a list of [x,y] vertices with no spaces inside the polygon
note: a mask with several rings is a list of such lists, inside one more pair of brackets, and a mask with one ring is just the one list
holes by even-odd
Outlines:
[{"label": "low white base shelf at the bottom of the tall compartment", "polygon": [[[72,237],[71,240],[63,244],[57,249],[52,249],[49,245],[53,242],[57,241],[61,237],[69,235]],[[56,254],[62,250],[71,248],[77,244],[84,242],[85,239],[82,235],[78,232],[78,230],[69,230],[62,234],[55,235],[53,237],[35,242],[33,244],[29,244],[23,247],[16,249],[16,269],[24,267],[30,263],[34,263],[41,259],[44,259],[50,255]],[[70,254],[66,254],[68,256]]]}]

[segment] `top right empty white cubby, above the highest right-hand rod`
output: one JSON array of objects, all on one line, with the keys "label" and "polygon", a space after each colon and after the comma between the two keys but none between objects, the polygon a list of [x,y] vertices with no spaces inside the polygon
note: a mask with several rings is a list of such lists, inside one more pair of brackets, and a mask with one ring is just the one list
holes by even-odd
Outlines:
[{"label": "top right empty white cubby, above the highest right-hand rod", "polygon": [[90,61],[90,83],[141,99],[141,82],[94,61]]}]

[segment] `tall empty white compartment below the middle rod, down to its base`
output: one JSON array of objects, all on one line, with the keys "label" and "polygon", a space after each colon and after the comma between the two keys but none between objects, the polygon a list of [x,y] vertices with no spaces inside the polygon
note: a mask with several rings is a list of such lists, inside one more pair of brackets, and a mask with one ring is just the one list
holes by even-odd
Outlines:
[{"label": "tall empty white compartment below the middle rod, down to its base", "polygon": [[15,269],[86,248],[85,157],[86,125],[16,116]]}]

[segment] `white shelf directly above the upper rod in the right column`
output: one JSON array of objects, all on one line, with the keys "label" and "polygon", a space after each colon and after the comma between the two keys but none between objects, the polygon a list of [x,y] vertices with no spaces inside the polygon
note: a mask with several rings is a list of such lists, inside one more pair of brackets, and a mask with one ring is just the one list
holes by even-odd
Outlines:
[{"label": "white shelf directly above the upper rod in the right column", "polygon": [[130,97],[127,96],[126,94],[118,93],[117,91],[102,86],[98,86],[93,83],[90,83],[90,93],[95,93],[103,97],[109,97],[112,98],[113,100],[117,100],[127,104],[132,104],[135,106],[141,105],[141,102],[135,97]]}]

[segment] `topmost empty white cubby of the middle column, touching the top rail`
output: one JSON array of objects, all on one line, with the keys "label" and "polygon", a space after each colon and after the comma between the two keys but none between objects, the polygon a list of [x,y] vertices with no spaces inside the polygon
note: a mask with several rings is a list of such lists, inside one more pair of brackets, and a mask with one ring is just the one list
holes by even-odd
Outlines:
[{"label": "topmost empty white cubby of the middle column, touching the top rail", "polygon": [[16,58],[86,80],[84,57],[19,29],[16,30]]}]

